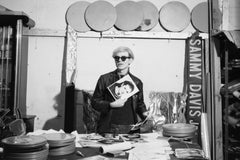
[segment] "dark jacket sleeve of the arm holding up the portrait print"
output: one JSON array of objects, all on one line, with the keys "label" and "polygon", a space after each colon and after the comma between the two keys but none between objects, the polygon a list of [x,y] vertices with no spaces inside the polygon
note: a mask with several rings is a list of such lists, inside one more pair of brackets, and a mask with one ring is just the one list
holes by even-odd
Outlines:
[{"label": "dark jacket sleeve of the arm holding up the portrait print", "polygon": [[105,82],[103,77],[100,77],[93,93],[92,106],[95,110],[101,112],[101,114],[108,113],[110,110],[110,102],[105,99],[105,94]]}]

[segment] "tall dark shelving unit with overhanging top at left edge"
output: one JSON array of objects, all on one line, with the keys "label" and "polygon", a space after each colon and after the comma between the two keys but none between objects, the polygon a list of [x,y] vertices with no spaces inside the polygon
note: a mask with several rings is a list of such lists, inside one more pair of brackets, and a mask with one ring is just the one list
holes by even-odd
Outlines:
[{"label": "tall dark shelving unit with overhanging top at left edge", "polygon": [[35,23],[24,12],[0,10],[0,109],[26,114],[28,38]]}]

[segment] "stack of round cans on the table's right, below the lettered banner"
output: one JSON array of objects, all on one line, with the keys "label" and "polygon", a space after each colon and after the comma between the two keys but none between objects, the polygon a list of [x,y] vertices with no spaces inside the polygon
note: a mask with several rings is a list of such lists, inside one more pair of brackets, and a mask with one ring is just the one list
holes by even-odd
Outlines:
[{"label": "stack of round cans on the table's right, below the lettered banner", "polygon": [[186,123],[164,124],[162,127],[164,136],[178,138],[192,138],[197,130],[195,125]]}]

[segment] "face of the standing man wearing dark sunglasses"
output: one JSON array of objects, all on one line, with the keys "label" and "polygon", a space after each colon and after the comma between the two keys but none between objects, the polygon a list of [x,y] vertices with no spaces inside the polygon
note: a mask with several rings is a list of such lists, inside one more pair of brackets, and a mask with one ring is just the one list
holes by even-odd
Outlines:
[{"label": "face of the standing man wearing dark sunglasses", "polygon": [[129,57],[128,52],[119,52],[115,55],[115,64],[118,70],[124,70],[128,68],[132,62],[132,58]]}]

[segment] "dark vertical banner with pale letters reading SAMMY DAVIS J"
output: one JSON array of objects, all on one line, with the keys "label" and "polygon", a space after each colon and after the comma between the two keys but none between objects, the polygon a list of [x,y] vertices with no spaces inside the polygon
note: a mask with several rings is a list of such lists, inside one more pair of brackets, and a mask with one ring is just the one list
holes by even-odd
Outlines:
[{"label": "dark vertical banner with pale letters reading SAMMY DAVIS J", "polygon": [[202,100],[202,39],[201,37],[190,37],[187,45],[187,121],[200,128],[203,107]]}]

